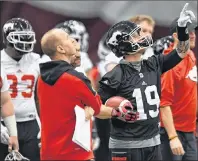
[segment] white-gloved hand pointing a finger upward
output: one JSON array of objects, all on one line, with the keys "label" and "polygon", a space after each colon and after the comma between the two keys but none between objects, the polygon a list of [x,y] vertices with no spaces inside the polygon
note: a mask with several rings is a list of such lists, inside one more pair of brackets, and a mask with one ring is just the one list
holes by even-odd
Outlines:
[{"label": "white-gloved hand pointing a finger upward", "polygon": [[187,23],[192,23],[196,19],[195,14],[191,10],[187,10],[189,3],[186,3],[180,12],[180,17],[178,19],[179,27],[186,27]]}]

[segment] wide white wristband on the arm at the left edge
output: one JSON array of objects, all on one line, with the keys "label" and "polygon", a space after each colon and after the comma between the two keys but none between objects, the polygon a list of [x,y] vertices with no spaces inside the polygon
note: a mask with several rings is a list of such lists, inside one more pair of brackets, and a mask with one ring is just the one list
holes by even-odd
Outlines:
[{"label": "wide white wristband on the arm at the left edge", "polygon": [[5,118],[3,118],[3,121],[5,123],[5,126],[8,129],[10,136],[17,136],[15,115],[5,117]]}]

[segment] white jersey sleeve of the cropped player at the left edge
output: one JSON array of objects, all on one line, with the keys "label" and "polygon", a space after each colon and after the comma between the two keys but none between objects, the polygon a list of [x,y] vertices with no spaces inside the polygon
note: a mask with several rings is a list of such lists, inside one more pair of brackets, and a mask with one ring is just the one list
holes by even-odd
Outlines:
[{"label": "white jersey sleeve of the cropped player at the left edge", "polygon": [[9,85],[8,85],[8,80],[6,77],[5,69],[3,65],[1,64],[1,73],[0,73],[0,87],[1,87],[1,92],[8,91]]}]

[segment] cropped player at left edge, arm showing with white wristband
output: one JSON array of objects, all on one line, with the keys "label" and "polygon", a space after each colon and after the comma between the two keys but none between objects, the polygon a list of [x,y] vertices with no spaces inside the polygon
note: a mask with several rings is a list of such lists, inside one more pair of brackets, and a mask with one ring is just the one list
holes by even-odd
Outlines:
[{"label": "cropped player at left edge, arm showing with white wristband", "polygon": [[[1,88],[1,116],[4,120],[5,126],[1,124],[1,143],[8,145],[7,151],[19,150],[19,143],[17,137],[16,119],[14,114],[14,105],[11,101],[8,92],[9,85],[5,70],[1,66],[0,75],[0,88]],[[2,160],[4,158],[0,158]]]}]

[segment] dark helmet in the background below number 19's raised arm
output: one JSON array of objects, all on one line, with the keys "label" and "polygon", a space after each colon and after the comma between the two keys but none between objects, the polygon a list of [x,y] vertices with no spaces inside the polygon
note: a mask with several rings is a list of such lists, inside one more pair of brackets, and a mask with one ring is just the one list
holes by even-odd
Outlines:
[{"label": "dark helmet in the background below number 19's raised arm", "polygon": [[155,55],[163,54],[163,51],[169,48],[169,46],[174,42],[172,36],[166,36],[158,39],[153,44],[152,48]]}]

